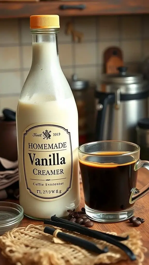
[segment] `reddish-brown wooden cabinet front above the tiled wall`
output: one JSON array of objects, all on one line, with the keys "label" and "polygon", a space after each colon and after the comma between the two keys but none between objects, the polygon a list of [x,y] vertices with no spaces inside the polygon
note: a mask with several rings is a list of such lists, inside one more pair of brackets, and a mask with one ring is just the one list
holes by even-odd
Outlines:
[{"label": "reddish-brown wooden cabinet front above the tiled wall", "polygon": [[[69,9],[60,9],[69,5]],[[83,10],[72,6],[85,5]],[[90,16],[116,14],[149,14],[148,0],[97,0],[97,1],[45,1],[45,2],[0,2],[0,18],[29,17],[37,14],[59,16]]]}]

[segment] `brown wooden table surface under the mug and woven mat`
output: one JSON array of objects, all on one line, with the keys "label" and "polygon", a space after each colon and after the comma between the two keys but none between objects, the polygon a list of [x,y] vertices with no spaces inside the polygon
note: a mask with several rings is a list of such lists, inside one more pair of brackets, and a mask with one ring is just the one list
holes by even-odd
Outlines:
[{"label": "brown wooden table surface under the mug and woven mat", "polygon": [[[149,173],[147,169],[140,169],[138,173],[138,184],[137,188],[140,188],[144,185],[146,185],[149,182]],[[84,196],[83,196],[83,189],[82,184],[80,184],[80,193],[81,193],[81,207],[84,207]],[[7,200],[8,201],[8,200]],[[19,203],[17,200],[11,200],[12,202]],[[149,264],[149,194],[141,198],[139,201],[135,203],[136,205],[136,211],[135,215],[139,217],[143,217],[145,219],[145,222],[141,224],[139,227],[135,227],[133,229],[136,229],[136,231],[140,231],[142,235],[142,242],[143,246],[147,248],[147,253],[145,253],[145,259],[142,265],[148,265]],[[22,220],[20,226],[26,227],[28,224],[35,224],[40,225],[43,224],[42,221],[33,220],[27,217],[24,217]],[[132,224],[129,223],[129,221],[124,221],[120,223],[98,223],[95,222],[93,229],[101,230],[101,231],[110,231],[110,232],[116,232],[116,233],[122,233],[126,232],[129,229],[132,229]],[[135,262],[118,262],[117,265],[130,265],[130,264],[136,264]],[[0,253],[0,265],[10,265],[7,259],[5,259],[2,254]],[[48,265],[48,264],[47,264]],[[103,264],[104,265],[104,264]]]}]

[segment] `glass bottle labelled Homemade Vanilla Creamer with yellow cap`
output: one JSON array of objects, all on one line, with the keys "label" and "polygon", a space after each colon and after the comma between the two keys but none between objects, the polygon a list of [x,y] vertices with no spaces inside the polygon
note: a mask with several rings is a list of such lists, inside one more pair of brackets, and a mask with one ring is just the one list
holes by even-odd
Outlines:
[{"label": "glass bottle labelled Homemade Vanilla Creamer with yellow cap", "polygon": [[78,113],[59,63],[59,27],[58,15],[30,17],[32,65],[17,106],[20,205],[35,219],[80,203]]}]

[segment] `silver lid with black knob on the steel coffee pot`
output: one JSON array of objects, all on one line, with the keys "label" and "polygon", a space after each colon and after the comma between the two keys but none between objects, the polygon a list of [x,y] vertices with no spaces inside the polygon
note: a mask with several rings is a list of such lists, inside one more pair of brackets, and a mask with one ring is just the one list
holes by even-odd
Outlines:
[{"label": "silver lid with black knob on the steel coffee pot", "polygon": [[118,74],[103,74],[102,81],[108,83],[115,83],[115,84],[135,84],[141,83],[143,81],[142,74],[132,74],[127,73],[127,67],[118,67],[119,70]]}]

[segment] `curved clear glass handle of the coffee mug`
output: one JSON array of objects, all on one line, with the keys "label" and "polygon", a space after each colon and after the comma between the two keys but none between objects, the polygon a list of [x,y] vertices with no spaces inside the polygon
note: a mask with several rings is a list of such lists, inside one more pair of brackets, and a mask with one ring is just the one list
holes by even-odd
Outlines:
[{"label": "curved clear glass handle of the coffee mug", "polygon": [[[149,170],[149,161],[146,160],[138,160],[134,165],[134,171],[137,171],[141,167],[146,168]],[[130,195],[129,203],[132,204],[135,201],[142,198],[144,195],[146,195],[149,192],[149,182],[141,189],[133,188],[132,193]]]}]

